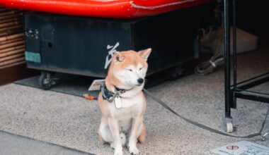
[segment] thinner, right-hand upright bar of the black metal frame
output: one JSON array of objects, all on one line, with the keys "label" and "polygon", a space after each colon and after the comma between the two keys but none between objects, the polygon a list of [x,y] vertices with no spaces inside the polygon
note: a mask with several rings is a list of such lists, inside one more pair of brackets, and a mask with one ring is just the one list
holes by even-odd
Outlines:
[{"label": "thinner, right-hand upright bar of the black metal frame", "polygon": [[[234,91],[237,87],[236,83],[236,3],[235,0],[233,0],[233,55],[234,55],[234,68],[233,68],[233,75],[234,75]],[[231,103],[231,107],[236,109],[236,97],[234,97],[233,94],[233,100]]]}]

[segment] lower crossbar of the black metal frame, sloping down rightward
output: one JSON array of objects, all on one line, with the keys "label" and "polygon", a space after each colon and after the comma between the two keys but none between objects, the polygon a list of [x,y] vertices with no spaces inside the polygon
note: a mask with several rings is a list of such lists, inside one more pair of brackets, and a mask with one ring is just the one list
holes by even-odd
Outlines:
[{"label": "lower crossbar of the black metal frame, sloping down rightward", "polygon": [[253,92],[248,90],[236,89],[234,92],[236,98],[248,99],[252,101],[261,101],[269,104],[269,94]]}]

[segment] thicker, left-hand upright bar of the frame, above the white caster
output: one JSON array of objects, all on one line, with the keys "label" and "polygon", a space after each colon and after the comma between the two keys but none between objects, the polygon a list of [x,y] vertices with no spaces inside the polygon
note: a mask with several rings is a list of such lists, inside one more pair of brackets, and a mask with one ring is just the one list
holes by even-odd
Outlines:
[{"label": "thicker, left-hand upright bar of the frame, above the white caster", "polygon": [[230,97],[230,33],[229,33],[229,0],[224,0],[224,91],[225,91],[225,117],[231,117]]}]

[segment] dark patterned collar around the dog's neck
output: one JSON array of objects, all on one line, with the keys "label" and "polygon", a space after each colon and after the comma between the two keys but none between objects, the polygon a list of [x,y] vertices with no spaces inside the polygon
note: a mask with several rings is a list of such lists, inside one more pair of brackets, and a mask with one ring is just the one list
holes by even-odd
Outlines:
[{"label": "dark patterned collar around the dog's neck", "polygon": [[[106,87],[106,85],[101,85],[101,92],[102,92],[102,97],[103,99],[112,102],[114,101],[115,97],[120,97],[120,94],[123,94],[127,91],[129,91],[130,89],[121,89],[118,87],[115,87],[115,92],[111,92],[110,90],[108,90],[108,87]],[[120,97],[122,98],[122,97]]]}]

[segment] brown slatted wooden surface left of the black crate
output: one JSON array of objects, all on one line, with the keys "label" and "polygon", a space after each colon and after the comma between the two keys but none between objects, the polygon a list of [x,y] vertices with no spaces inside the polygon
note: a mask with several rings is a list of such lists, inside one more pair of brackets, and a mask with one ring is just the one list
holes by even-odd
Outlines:
[{"label": "brown slatted wooden surface left of the black crate", "polygon": [[22,11],[0,6],[0,85],[38,75],[26,68]]}]

